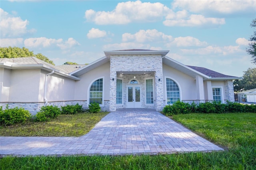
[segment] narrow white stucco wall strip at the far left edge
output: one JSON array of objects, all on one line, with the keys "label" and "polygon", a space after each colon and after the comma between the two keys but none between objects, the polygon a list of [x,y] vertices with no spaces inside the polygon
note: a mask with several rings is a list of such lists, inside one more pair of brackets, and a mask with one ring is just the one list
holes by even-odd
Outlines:
[{"label": "narrow white stucco wall strip at the far left edge", "polygon": [[0,68],[0,102],[7,102],[10,93],[11,70]]}]

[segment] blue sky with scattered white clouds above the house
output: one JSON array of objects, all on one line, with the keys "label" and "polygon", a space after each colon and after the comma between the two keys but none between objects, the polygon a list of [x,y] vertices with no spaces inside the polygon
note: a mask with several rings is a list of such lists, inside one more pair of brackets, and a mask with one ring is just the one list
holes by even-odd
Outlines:
[{"label": "blue sky with scattered white clouds above the house", "polygon": [[26,47],[56,65],[104,51],[170,50],[168,57],[241,77],[255,0],[1,0],[0,46]]}]

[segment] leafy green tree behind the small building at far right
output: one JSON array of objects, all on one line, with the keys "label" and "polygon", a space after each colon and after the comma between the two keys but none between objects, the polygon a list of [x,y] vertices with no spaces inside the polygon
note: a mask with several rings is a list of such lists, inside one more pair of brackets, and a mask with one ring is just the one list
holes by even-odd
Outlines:
[{"label": "leafy green tree behind the small building at far right", "polygon": [[256,88],[256,68],[244,71],[243,79],[234,81],[234,91],[240,92]]}]

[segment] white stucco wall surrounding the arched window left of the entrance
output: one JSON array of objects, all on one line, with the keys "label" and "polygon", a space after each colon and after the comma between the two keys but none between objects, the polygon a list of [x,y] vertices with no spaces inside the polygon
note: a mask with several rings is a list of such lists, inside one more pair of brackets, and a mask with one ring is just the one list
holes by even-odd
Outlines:
[{"label": "white stucco wall surrounding the arched window left of the entrance", "polygon": [[96,79],[102,78],[102,77],[104,77],[104,101],[109,101],[109,91],[110,91],[110,63],[109,62],[79,77],[81,80],[76,81],[75,83],[74,99],[87,101],[88,88],[90,88],[90,86]]}]

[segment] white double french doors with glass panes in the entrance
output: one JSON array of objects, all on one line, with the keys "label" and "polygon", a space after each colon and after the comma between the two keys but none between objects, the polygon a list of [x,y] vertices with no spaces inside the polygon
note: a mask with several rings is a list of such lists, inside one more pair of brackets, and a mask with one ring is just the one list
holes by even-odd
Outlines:
[{"label": "white double french doors with glass panes in the entrance", "polygon": [[141,85],[127,85],[127,108],[141,108]]}]

